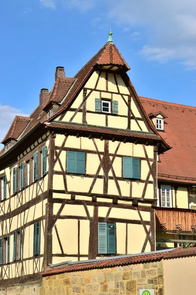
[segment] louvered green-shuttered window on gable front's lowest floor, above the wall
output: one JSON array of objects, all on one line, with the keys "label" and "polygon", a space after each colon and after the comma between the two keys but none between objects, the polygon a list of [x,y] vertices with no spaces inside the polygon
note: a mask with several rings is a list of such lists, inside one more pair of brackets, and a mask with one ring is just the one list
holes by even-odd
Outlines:
[{"label": "louvered green-shuttered window on gable front's lowest floor, above the wall", "polygon": [[116,254],[115,223],[98,222],[98,254]]}]

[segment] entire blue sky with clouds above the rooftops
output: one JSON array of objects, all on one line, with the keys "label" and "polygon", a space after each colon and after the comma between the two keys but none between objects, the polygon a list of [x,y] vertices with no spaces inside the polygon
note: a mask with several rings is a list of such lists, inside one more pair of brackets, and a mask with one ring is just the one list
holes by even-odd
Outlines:
[{"label": "entire blue sky with clouds above the rooftops", "polygon": [[[171,3],[172,2],[172,3]],[[75,73],[107,42],[141,96],[195,106],[195,0],[9,0],[0,10],[0,138],[29,115],[56,66]]]}]

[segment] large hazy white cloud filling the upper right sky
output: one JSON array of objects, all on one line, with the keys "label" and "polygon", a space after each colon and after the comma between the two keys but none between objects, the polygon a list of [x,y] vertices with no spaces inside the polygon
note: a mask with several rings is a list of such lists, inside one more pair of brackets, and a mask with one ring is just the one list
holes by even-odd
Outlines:
[{"label": "large hazy white cloud filling the upper right sky", "polygon": [[126,28],[139,28],[147,44],[140,54],[150,60],[176,59],[196,69],[195,0],[107,0],[108,16]]}]

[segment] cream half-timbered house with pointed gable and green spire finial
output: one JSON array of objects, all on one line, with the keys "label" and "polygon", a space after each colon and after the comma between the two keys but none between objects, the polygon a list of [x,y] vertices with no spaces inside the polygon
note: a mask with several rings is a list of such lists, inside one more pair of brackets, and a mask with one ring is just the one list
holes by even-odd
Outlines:
[{"label": "cream half-timbered house with pointed gable and green spire finial", "polygon": [[157,156],[170,149],[108,42],[73,77],[57,67],[0,152],[0,282],[51,264],[155,250]]}]

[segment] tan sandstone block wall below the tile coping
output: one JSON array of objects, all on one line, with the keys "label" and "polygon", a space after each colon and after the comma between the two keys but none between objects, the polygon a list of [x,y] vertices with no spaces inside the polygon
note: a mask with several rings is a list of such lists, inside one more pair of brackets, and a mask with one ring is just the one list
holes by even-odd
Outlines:
[{"label": "tan sandstone block wall below the tile coping", "polygon": [[163,261],[74,271],[43,278],[40,295],[164,295]]}]

